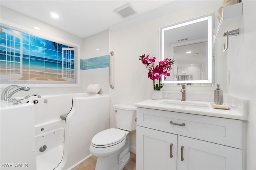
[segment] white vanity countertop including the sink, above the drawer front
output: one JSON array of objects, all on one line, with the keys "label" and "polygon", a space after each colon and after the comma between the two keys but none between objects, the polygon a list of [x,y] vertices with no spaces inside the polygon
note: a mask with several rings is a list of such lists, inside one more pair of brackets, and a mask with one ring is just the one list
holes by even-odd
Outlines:
[{"label": "white vanity countertop including the sink, above the drawer front", "polygon": [[135,104],[136,107],[189,113],[228,119],[248,120],[248,111],[238,108],[235,105],[228,105],[229,110],[214,109],[213,102],[208,101],[180,101],[178,99],[162,99],[141,101]]}]

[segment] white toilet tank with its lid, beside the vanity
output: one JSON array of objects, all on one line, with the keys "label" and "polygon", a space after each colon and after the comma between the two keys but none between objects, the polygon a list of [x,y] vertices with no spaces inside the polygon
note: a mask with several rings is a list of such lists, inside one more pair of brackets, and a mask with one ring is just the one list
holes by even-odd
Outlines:
[{"label": "white toilet tank with its lid, beside the vanity", "polygon": [[136,129],[136,107],[134,105],[113,105],[116,114],[116,127],[132,131]]}]

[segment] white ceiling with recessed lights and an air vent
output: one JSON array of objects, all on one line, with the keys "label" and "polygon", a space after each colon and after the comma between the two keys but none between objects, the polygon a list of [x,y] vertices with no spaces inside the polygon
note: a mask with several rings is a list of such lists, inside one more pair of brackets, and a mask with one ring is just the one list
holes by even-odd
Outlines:
[{"label": "white ceiling with recessed lights and an air vent", "polygon": [[[120,30],[189,6],[202,0],[1,0],[5,6],[81,38],[105,30]],[[130,3],[137,14],[123,19],[114,12]],[[56,12],[59,18],[52,18]],[[35,25],[36,27],[36,25]]]}]

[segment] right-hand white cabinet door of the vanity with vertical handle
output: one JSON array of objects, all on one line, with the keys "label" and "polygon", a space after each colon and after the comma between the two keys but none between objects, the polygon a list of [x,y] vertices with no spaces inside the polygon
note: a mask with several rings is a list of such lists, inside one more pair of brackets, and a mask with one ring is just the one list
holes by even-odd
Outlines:
[{"label": "right-hand white cabinet door of the vanity with vertical handle", "polygon": [[177,149],[178,170],[242,170],[241,149],[179,135]]}]

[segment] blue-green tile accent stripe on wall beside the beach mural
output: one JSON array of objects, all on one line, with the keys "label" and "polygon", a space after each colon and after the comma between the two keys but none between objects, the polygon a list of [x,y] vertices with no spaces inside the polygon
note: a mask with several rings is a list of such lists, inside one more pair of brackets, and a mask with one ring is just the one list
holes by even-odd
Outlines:
[{"label": "blue-green tile accent stripe on wall beside the beach mural", "polygon": [[98,69],[108,67],[108,55],[94,57],[89,59],[80,59],[80,69]]}]

